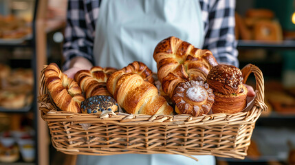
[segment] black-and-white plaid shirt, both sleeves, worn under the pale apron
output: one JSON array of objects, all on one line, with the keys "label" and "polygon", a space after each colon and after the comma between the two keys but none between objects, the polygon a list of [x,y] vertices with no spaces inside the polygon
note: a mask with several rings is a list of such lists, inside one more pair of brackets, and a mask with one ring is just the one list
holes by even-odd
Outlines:
[{"label": "black-and-white plaid shirt, both sleeves, worn under the pale apron", "polygon": [[[206,34],[203,49],[212,52],[219,63],[239,67],[234,36],[234,0],[199,0]],[[93,63],[93,46],[100,0],[69,0],[63,56],[64,69],[76,56]]]}]

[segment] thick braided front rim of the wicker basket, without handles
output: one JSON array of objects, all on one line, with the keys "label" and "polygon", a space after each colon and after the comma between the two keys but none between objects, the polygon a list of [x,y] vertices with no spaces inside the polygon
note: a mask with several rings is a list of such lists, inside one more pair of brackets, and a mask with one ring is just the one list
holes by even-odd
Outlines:
[{"label": "thick braided front rim of the wicker basket, without handles", "polygon": [[[105,123],[116,122],[119,125],[232,125],[232,124],[248,124],[256,122],[261,115],[263,109],[254,105],[250,111],[238,113],[212,113],[206,115],[193,116],[188,114],[176,115],[144,115],[144,114],[129,114],[112,111],[105,111],[101,114],[75,113],[68,111],[59,111],[54,107],[48,94],[39,96],[41,106],[41,117],[46,122],[78,122],[83,123]],[[47,100],[45,102],[44,100]]]}]

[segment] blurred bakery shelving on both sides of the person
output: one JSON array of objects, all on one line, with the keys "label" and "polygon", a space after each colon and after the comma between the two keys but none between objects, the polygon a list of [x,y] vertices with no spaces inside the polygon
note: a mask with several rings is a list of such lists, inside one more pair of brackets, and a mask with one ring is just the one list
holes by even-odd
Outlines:
[{"label": "blurred bakery shelving on both sides of the person", "polygon": [[[43,64],[63,63],[66,9],[67,0],[0,0],[0,164],[71,163],[50,144],[36,102]],[[262,70],[269,109],[248,156],[217,164],[294,164],[295,1],[237,0],[236,22],[239,67]]]}]

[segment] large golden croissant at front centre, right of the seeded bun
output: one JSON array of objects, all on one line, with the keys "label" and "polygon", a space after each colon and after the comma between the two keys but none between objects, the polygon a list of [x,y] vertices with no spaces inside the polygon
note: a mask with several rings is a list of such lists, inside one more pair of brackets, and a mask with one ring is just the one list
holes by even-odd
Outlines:
[{"label": "large golden croissant at front centre, right of the seeded bun", "polygon": [[[173,108],[164,97],[158,95],[157,87],[147,81],[151,80],[151,70],[146,66],[135,67],[140,66],[138,64],[144,66],[144,63],[135,61],[111,74],[107,80],[107,89],[120,107],[128,113],[171,115]],[[131,71],[131,68],[136,69]],[[140,68],[145,68],[146,71],[137,74],[136,72],[139,72]]]}]

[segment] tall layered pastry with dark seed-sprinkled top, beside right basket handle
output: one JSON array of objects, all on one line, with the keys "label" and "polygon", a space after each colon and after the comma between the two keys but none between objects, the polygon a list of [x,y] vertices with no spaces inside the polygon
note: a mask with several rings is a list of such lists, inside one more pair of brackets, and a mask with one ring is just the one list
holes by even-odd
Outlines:
[{"label": "tall layered pastry with dark seed-sprinkled top, beside right basket handle", "polygon": [[248,90],[243,85],[243,74],[239,68],[233,65],[212,67],[207,83],[215,95],[213,113],[236,113],[245,108]]}]

